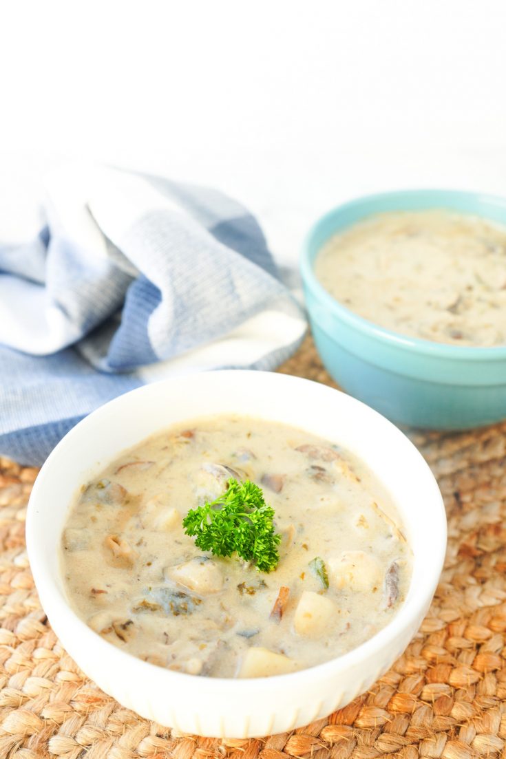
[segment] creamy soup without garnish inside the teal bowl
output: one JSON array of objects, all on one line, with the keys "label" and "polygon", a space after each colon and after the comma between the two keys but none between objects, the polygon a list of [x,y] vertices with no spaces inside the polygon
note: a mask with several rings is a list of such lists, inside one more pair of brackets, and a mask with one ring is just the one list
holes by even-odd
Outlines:
[{"label": "creamy soup without garnish inside the teal bowl", "polygon": [[383,213],[334,235],[315,273],[380,326],[453,345],[506,343],[506,227],[444,210]]}]

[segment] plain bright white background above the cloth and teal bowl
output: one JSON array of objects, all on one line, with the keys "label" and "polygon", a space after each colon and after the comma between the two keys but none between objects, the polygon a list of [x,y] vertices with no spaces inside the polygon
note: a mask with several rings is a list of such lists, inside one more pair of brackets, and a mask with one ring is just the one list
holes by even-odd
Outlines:
[{"label": "plain bright white background above the cloth and teal bowl", "polygon": [[4,175],[77,157],[213,184],[289,260],[356,194],[506,194],[502,0],[19,0],[0,16]]}]

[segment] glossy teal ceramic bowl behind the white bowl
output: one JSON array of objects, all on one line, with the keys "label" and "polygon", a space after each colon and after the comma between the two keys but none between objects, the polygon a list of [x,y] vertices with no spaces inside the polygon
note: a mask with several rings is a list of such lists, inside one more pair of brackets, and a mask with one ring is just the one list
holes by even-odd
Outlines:
[{"label": "glossy teal ceramic bowl behind the white bowl", "polygon": [[506,345],[468,348],[391,332],[362,319],[318,282],[314,263],[335,232],[384,211],[450,209],[506,225],[506,200],[474,192],[410,190],[352,200],[322,216],[302,250],[305,302],[327,371],[400,424],[465,430],[506,418]]}]

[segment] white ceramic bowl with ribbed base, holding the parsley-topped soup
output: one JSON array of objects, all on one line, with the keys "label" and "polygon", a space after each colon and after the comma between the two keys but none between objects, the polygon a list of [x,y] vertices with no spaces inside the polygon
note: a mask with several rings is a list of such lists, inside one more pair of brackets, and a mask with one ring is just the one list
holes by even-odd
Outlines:
[{"label": "white ceramic bowl with ribbed base, holding the parsley-topped soup", "polygon": [[[170,424],[239,413],[302,427],[362,458],[391,493],[414,554],[403,606],[374,638],[346,655],[289,675],[195,677],[162,669],[96,635],[72,611],[59,546],[77,489],[122,449]],[[120,704],[162,725],[245,738],[285,732],[325,716],[367,690],[403,653],[429,609],[443,565],[446,518],[438,485],[413,444],[380,414],[307,379],[216,371],[128,392],[94,411],[56,446],[37,477],[27,546],[40,601],[81,669]]]}]

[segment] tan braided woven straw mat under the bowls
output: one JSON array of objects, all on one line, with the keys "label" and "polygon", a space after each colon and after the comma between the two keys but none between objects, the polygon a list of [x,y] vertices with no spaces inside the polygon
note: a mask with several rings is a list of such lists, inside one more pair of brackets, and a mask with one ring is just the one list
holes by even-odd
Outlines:
[{"label": "tan braided woven straw mat under the bowls", "polygon": [[[330,384],[309,339],[282,371]],[[25,551],[36,471],[0,459],[0,759],[506,759],[506,423],[412,437],[449,521],[429,616],[368,693],[293,733],[249,741],[175,735],[77,669],[46,622]]]}]

